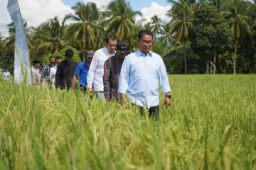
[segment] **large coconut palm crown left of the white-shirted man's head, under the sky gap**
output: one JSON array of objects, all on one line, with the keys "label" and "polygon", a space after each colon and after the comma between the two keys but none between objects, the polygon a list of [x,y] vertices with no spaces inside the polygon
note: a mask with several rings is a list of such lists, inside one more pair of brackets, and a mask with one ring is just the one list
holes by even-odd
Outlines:
[{"label": "large coconut palm crown left of the white-shirted man's head, under the sky gap", "polygon": [[98,37],[95,32],[100,32],[105,35],[105,30],[97,23],[100,18],[100,11],[95,3],[89,2],[84,4],[78,2],[72,7],[75,10],[75,15],[70,13],[65,16],[63,23],[68,19],[76,21],[67,26],[66,38],[73,38],[73,42],[79,42],[78,50],[88,50],[95,47],[95,40]]}]

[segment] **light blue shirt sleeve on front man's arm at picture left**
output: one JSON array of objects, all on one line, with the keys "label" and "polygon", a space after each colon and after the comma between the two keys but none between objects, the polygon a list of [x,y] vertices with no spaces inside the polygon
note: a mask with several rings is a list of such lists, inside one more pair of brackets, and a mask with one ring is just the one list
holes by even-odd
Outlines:
[{"label": "light blue shirt sleeve on front man's arm at picture left", "polygon": [[126,94],[129,85],[129,57],[125,57],[119,76],[118,93]]}]

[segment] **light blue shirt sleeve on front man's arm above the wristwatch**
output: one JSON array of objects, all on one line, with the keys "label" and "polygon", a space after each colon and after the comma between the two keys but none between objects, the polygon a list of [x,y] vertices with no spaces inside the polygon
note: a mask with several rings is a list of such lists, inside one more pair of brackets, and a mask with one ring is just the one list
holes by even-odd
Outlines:
[{"label": "light blue shirt sleeve on front man's arm above the wristwatch", "polygon": [[164,94],[167,92],[171,91],[170,85],[169,85],[169,79],[168,79],[168,74],[166,72],[166,67],[164,65],[164,61],[160,61],[159,65],[159,81],[161,85],[161,90],[163,91]]}]

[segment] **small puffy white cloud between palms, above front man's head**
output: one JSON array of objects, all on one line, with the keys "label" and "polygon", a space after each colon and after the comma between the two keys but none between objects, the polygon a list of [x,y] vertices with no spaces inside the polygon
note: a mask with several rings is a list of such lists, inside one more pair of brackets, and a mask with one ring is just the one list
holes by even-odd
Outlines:
[{"label": "small puffy white cloud between palms, above front man's head", "polygon": [[142,17],[137,17],[137,21],[139,21],[142,18],[146,19],[146,22],[151,21],[151,17],[156,15],[159,18],[161,18],[161,21],[169,22],[170,17],[166,16],[166,12],[171,9],[171,6],[161,6],[157,4],[156,2],[152,2],[149,7],[144,7],[141,10]]}]

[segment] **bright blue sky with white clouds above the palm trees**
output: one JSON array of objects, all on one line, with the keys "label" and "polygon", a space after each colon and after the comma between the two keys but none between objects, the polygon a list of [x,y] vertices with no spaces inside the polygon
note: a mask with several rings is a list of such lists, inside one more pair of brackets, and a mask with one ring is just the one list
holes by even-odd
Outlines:
[{"label": "bright blue sky with white clouds above the palm trees", "polygon": [[[0,34],[4,37],[8,36],[7,24],[11,23],[11,17],[7,11],[7,1],[0,0]],[[94,2],[98,7],[107,6],[110,0],[81,0],[87,3]],[[21,15],[27,21],[28,26],[37,27],[41,23],[47,21],[54,16],[58,16],[60,21],[68,13],[74,13],[71,8],[78,1],[76,0],[18,0],[21,9]],[[134,11],[142,12],[142,18],[150,21],[154,15],[159,16],[162,21],[169,22],[170,18],[166,16],[171,4],[166,0],[129,0]],[[137,20],[141,19],[137,17]]]}]

